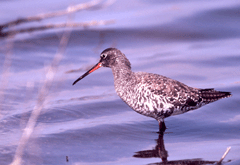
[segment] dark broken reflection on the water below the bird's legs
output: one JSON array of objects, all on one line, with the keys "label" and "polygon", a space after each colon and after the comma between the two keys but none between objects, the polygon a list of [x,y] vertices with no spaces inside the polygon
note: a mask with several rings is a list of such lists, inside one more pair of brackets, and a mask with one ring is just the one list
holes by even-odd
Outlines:
[{"label": "dark broken reflection on the water below the bird's legs", "polygon": [[168,151],[165,149],[163,136],[159,134],[158,139],[156,139],[157,145],[152,150],[138,151],[133,155],[136,158],[161,158],[162,162],[151,163],[151,165],[160,165],[160,164],[174,164],[174,165],[204,165],[204,164],[216,164],[216,161],[205,161],[202,159],[185,159],[185,160],[174,160],[168,161]]}]

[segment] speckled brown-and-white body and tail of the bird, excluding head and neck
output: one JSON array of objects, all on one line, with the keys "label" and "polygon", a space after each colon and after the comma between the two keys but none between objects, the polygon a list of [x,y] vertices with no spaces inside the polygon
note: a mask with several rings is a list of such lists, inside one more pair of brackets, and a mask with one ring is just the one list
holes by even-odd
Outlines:
[{"label": "speckled brown-and-white body and tail of the bird, excluding head and neck", "polygon": [[132,77],[131,86],[125,84],[127,92],[120,97],[138,113],[157,120],[231,96],[229,92],[192,88],[157,74],[137,72]]}]

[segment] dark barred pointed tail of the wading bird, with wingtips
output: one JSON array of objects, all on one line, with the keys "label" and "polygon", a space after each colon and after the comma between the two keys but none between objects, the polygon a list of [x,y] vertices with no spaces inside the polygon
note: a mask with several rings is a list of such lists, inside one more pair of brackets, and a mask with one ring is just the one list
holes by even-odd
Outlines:
[{"label": "dark barred pointed tail of the wading bird, with wingtips", "polygon": [[215,91],[213,88],[211,89],[200,89],[200,96],[205,103],[211,103],[217,101],[222,98],[227,98],[232,96],[230,92],[221,92]]}]

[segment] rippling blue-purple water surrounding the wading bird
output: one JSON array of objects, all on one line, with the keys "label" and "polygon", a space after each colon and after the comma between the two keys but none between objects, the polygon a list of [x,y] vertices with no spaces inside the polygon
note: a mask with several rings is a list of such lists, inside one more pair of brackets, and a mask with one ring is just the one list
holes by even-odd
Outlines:
[{"label": "rippling blue-purple water surrounding the wading bird", "polygon": [[[2,1],[1,23],[63,10],[78,2]],[[164,145],[169,161],[195,158],[218,161],[229,146],[232,148],[225,161],[239,160],[239,11],[240,3],[234,0],[151,0],[116,1],[102,9],[75,14],[74,21],[78,22],[114,19],[115,23],[72,30],[26,144],[23,164],[162,162],[156,155],[133,157],[144,151],[156,152],[158,123],[132,111],[119,99],[110,69],[101,68],[72,86],[108,47],[124,52],[134,71],[165,75],[193,87],[232,92],[231,98],[167,118]],[[60,17],[22,27],[66,20]],[[8,72],[3,67],[6,38],[1,38],[0,164],[13,160],[23,129],[37,104],[47,68],[58,50],[61,34],[62,29],[15,36]]]}]

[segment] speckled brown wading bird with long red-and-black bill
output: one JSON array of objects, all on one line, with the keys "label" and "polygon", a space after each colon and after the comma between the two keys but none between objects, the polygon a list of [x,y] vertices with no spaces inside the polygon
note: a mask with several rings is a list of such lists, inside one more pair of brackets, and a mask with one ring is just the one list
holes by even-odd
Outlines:
[{"label": "speckled brown wading bird with long red-and-black bill", "polygon": [[102,51],[99,62],[72,85],[101,67],[112,69],[117,95],[137,113],[156,119],[162,135],[167,128],[165,118],[231,96],[231,92],[193,88],[154,73],[133,72],[129,60],[117,48]]}]

